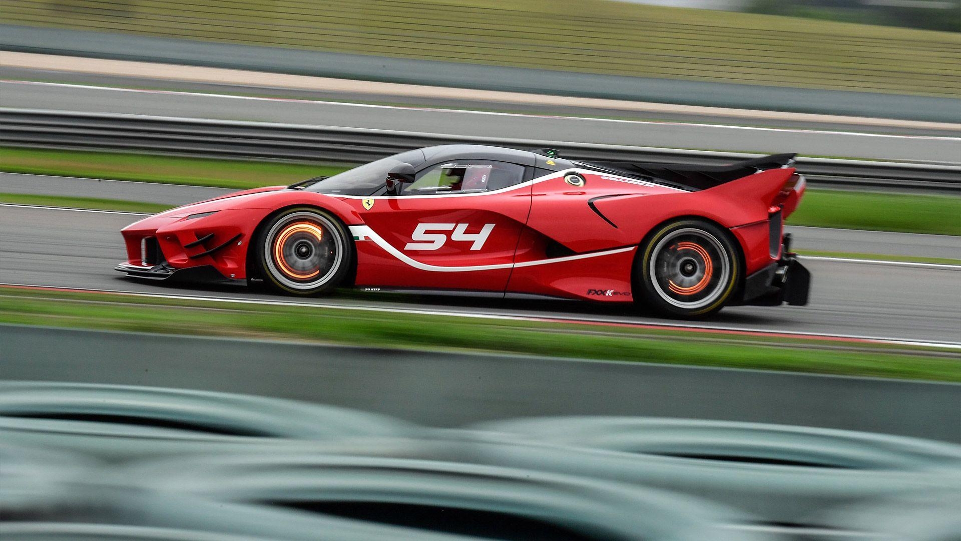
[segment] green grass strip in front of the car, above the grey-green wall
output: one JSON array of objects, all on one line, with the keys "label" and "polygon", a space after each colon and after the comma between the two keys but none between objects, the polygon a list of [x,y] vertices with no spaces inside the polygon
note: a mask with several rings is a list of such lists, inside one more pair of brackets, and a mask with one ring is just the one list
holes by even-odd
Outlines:
[{"label": "green grass strip in front of the car, above the grey-green wall", "polygon": [[961,381],[956,355],[928,356],[921,348],[839,350],[799,339],[13,288],[0,288],[0,322]]}]

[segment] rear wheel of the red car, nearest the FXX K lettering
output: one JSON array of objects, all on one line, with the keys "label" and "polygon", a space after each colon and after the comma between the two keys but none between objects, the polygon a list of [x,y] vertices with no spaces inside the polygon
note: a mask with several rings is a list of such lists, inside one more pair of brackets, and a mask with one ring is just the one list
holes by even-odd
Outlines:
[{"label": "rear wheel of the red car, nearest the FXX K lettering", "polygon": [[659,228],[638,251],[636,281],[663,314],[703,318],[724,307],[741,274],[736,246],[720,227],[685,219]]}]

